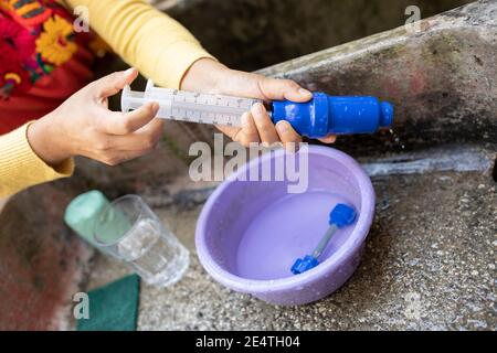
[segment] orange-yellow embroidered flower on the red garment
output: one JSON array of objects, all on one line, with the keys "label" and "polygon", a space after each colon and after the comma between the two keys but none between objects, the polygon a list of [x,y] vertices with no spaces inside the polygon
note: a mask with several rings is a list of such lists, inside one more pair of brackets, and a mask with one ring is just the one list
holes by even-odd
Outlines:
[{"label": "orange-yellow embroidered flower on the red garment", "polygon": [[36,52],[50,63],[64,64],[77,51],[73,26],[55,14],[43,23],[43,30],[36,40]]}]

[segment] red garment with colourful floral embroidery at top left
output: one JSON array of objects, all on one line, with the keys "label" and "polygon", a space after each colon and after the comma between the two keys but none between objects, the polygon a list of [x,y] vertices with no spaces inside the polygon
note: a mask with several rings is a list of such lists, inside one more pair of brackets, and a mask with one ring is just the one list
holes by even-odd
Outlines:
[{"label": "red garment with colourful floral embroidery at top left", "polygon": [[0,0],[0,135],[55,109],[92,78],[105,43],[54,0]]}]

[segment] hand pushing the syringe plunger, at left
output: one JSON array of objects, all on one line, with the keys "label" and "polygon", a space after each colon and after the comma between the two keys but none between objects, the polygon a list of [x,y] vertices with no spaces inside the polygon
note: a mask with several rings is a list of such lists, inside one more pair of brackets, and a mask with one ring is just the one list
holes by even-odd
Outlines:
[{"label": "hand pushing the syringe plunger, at left", "polygon": [[28,129],[34,152],[51,165],[73,156],[115,165],[151,151],[162,133],[155,119],[157,103],[130,113],[108,109],[109,96],[129,85],[138,71],[129,68],[95,81]]}]

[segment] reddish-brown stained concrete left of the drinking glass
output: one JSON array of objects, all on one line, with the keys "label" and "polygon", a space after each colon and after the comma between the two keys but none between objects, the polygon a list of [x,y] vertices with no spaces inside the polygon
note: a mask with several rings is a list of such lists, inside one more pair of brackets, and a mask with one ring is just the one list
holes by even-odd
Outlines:
[{"label": "reddish-brown stained concrete left of the drinking glass", "polygon": [[62,223],[75,186],[33,188],[1,211],[0,331],[72,328],[72,298],[93,255]]}]

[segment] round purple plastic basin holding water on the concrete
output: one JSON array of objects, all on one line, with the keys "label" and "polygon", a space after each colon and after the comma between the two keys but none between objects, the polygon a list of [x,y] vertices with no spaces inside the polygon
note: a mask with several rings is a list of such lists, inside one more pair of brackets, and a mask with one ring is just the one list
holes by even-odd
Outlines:
[{"label": "round purple plastic basin holding water on the concrete", "polygon": [[[240,179],[285,158],[266,153],[239,169]],[[297,164],[298,165],[298,164]],[[205,270],[222,285],[275,304],[304,304],[340,286],[359,265],[374,214],[374,191],[362,168],[327,147],[308,148],[308,189],[289,194],[285,181],[224,181],[200,214],[195,245]],[[274,180],[274,179],[273,179]],[[328,228],[338,202],[358,211],[352,226],[338,231],[320,265],[293,275],[294,261],[310,254]]]}]

